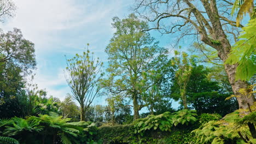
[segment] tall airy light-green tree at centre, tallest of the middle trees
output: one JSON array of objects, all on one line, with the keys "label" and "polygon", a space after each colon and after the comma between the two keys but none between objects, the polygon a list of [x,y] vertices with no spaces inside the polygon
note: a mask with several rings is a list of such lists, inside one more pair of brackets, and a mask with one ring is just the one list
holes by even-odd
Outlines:
[{"label": "tall airy light-green tree at centre, tallest of the middle trees", "polygon": [[114,17],[112,26],[116,31],[106,47],[109,75],[102,85],[112,93],[119,93],[131,99],[134,119],[137,119],[139,110],[147,105],[142,99],[142,91],[153,84],[143,85],[142,75],[149,74],[158,57],[165,56],[166,49],[160,48],[149,33],[142,32],[148,25],[134,14],[123,20]]}]

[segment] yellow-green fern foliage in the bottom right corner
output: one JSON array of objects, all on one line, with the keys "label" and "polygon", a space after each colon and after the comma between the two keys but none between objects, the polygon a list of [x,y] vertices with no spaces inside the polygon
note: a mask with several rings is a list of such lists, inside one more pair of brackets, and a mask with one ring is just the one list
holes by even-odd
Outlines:
[{"label": "yellow-green fern foliage in the bottom right corner", "polygon": [[[192,132],[200,143],[249,143],[248,122],[255,123],[255,113],[240,117],[238,112],[229,113],[220,121],[210,121]],[[246,138],[245,138],[246,137]]]}]

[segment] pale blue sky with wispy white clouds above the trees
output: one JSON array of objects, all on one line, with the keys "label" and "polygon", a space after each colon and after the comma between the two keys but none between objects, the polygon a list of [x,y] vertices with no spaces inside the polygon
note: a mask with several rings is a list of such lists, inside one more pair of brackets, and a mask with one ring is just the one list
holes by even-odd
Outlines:
[{"label": "pale blue sky with wispy white clouds above the trees", "polygon": [[[104,49],[113,37],[112,18],[132,13],[132,0],[13,0],[16,16],[0,23],[4,32],[21,29],[24,38],[35,44],[37,69],[34,83],[48,95],[63,100],[71,93],[63,70],[66,58],[89,49],[107,63]],[[171,37],[150,32],[160,46],[170,48]],[[105,104],[97,98],[94,104]]]}]

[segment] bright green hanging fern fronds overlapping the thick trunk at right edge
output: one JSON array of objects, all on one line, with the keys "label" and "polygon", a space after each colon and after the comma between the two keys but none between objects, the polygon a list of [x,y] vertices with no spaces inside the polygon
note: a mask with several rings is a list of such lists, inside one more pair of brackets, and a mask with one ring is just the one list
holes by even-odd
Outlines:
[{"label": "bright green hanging fern fronds overlapping the thick trunk at right edge", "polygon": [[232,47],[229,58],[225,63],[236,64],[236,80],[249,80],[255,74],[256,69],[256,19],[249,21],[235,45]]}]

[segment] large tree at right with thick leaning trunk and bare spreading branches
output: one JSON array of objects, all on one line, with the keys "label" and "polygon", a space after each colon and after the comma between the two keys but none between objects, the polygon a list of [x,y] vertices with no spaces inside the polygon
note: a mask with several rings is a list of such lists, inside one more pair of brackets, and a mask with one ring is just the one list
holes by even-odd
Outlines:
[{"label": "large tree at right with thick leaning trunk and bare spreading branches", "polygon": [[[195,35],[198,41],[213,47],[225,62],[231,45],[237,41],[237,28],[243,27],[241,24],[237,26],[236,20],[231,17],[232,6],[232,1],[226,0],[138,0],[135,10],[144,19],[156,23],[150,29],[179,34],[180,38]],[[237,64],[225,63],[224,67],[234,94],[239,96],[237,101],[240,109],[248,109],[255,99],[239,92],[241,88],[247,88],[248,83],[236,81]]]}]

